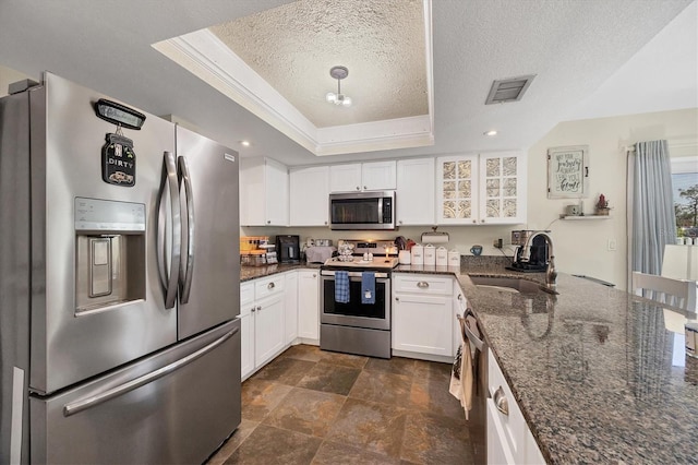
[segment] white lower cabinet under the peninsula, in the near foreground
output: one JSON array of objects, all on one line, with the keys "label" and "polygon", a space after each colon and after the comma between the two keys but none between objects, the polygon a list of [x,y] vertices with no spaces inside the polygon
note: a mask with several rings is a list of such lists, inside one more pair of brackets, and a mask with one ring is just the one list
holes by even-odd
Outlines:
[{"label": "white lower cabinet under the peninsula, in the near foreground", "polygon": [[544,464],[512,390],[490,350],[488,363],[488,463]]}]

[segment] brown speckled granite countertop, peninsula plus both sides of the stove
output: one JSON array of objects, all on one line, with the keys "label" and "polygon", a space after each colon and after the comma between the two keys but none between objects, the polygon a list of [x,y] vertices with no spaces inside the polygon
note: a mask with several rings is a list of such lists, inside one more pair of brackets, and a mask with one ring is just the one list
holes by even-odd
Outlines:
[{"label": "brown speckled granite countertop, peninsula plus both sides of the stove", "polygon": [[[306,267],[320,265],[243,267],[241,281]],[[698,463],[698,359],[683,336],[695,313],[564,273],[558,295],[477,287],[470,275],[545,281],[484,257],[395,272],[458,279],[547,462]]]}]

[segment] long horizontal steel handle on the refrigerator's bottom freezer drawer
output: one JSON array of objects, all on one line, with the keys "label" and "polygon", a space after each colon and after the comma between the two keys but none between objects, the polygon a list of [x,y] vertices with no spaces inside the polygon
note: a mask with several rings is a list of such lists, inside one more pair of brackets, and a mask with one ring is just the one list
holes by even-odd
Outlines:
[{"label": "long horizontal steel handle on the refrigerator's bottom freezer drawer", "polygon": [[171,373],[172,371],[177,371],[180,368],[196,360],[197,358],[201,358],[204,355],[208,354],[209,351],[212,351],[213,349],[215,349],[216,347],[218,347],[219,345],[228,341],[239,331],[240,331],[240,327],[236,327],[232,331],[227,332],[226,334],[224,334],[213,343],[208,344],[207,346],[200,348],[195,353],[190,354],[184,358],[181,358],[170,365],[166,365],[165,367],[159,368],[155,371],[152,371],[147,374],[144,374],[134,380],[131,380],[128,383],[123,383],[121,385],[115,386],[110,390],[100,392],[98,394],[94,394],[94,395],[77,400],[75,402],[71,402],[70,404],[67,404],[63,406],[63,416],[70,417],[71,415],[75,415],[88,408],[95,407],[99,404],[104,404],[107,401],[124,395],[145,384],[152,383],[153,381],[158,380],[165,377],[166,374]]}]

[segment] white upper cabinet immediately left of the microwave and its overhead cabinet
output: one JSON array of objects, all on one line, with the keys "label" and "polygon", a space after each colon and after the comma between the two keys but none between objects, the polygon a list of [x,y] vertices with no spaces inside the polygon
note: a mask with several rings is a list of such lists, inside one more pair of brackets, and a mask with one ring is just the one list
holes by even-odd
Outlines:
[{"label": "white upper cabinet immediately left of the microwave and its overhead cabinet", "polygon": [[291,169],[290,226],[327,226],[329,224],[329,167]]}]

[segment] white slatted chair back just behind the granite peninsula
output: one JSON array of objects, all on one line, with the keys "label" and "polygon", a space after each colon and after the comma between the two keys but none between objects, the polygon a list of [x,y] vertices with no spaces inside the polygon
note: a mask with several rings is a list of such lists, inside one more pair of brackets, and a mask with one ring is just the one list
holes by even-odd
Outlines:
[{"label": "white slatted chair back just behind the granite peninsula", "polygon": [[682,310],[696,311],[696,282],[633,272],[633,291]]}]

